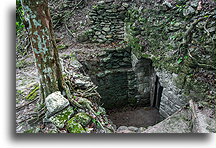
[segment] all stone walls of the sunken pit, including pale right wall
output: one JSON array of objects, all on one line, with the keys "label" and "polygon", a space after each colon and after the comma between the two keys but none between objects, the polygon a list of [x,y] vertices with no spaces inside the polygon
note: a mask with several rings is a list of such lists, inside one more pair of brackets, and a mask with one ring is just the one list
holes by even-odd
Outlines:
[{"label": "all stone walls of the sunken pit, including pale right wall", "polygon": [[187,103],[176,85],[177,74],[155,69],[150,59],[137,58],[129,47],[101,51],[81,63],[98,86],[103,107],[152,106],[166,118]]}]

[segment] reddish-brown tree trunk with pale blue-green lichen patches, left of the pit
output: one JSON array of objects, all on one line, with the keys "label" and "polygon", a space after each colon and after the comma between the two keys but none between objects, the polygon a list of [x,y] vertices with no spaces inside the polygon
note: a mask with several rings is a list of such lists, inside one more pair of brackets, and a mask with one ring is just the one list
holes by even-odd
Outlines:
[{"label": "reddish-brown tree trunk with pale blue-green lichen patches, left of the pit", "polygon": [[65,94],[60,59],[48,9],[48,0],[24,0],[22,2],[29,35],[39,74],[41,99],[55,91]]}]

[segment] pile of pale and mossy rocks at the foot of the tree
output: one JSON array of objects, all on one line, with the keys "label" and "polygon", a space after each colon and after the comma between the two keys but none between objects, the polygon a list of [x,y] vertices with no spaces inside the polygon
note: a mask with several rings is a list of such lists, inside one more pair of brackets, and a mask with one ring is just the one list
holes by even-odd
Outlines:
[{"label": "pile of pale and mossy rocks at the foot of the tree", "polygon": [[[70,105],[60,91],[50,94],[45,99],[47,112],[44,123],[52,127],[48,133],[112,133],[114,127],[109,124],[106,112],[86,98],[77,97],[82,108]],[[91,108],[93,107],[93,108]],[[91,108],[91,109],[90,109]],[[48,126],[47,126],[48,127]]]}]

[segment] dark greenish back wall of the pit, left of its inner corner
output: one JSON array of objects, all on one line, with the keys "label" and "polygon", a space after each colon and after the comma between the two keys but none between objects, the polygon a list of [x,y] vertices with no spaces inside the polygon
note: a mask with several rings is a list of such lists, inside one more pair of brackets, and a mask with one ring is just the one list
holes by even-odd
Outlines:
[{"label": "dark greenish back wall of the pit, left of its inner corner", "polygon": [[101,55],[96,73],[98,92],[105,108],[118,108],[128,104],[128,71],[131,70],[130,48],[107,49]]}]

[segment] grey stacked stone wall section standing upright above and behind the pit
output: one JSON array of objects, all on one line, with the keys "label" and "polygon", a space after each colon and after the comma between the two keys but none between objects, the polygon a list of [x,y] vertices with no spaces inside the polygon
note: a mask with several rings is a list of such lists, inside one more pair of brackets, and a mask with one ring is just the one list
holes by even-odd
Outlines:
[{"label": "grey stacked stone wall section standing upright above and behind the pit", "polygon": [[129,4],[124,1],[100,1],[89,13],[91,29],[89,39],[92,42],[110,43],[124,39],[124,19]]}]

